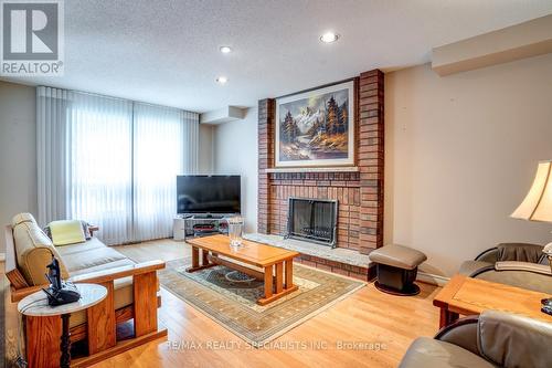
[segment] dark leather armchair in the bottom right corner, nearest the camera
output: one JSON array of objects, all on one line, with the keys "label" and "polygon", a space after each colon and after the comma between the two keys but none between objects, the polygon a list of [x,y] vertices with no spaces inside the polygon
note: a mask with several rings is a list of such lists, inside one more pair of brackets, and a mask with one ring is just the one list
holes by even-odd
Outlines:
[{"label": "dark leather armchair in the bottom right corner, nearest the camera", "polygon": [[458,319],[435,338],[418,337],[400,368],[550,367],[552,324],[497,311]]}]

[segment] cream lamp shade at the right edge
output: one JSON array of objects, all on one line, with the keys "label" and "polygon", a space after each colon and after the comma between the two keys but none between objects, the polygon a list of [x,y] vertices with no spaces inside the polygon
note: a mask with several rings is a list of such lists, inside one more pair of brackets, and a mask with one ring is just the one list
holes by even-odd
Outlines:
[{"label": "cream lamp shade at the right edge", "polygon": [[552,161],[541,161],[523,202],[511,214],[529,221],[552,222]]}]

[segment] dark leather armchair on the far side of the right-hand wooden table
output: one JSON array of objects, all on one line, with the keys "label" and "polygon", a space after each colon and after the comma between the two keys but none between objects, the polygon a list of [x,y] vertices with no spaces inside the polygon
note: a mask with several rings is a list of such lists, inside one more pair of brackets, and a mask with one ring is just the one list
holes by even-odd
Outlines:
[{"label": "dark leather armchair on the far side of the right-hand wooden table", "polygon": [[460,265],[459,273],[469,277],[552,294],[552,271],[543,246],[527,243],[502,243]]}]

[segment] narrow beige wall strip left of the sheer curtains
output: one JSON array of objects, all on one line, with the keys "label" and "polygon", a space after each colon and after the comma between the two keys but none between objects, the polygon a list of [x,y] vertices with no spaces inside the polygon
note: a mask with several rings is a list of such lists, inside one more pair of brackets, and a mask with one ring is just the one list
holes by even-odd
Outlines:
[{"label": "narrow beige wall strip left of the sheer curtains", "polygon": [[0,252],[11,217],[38,211],[35,98],[34,87],[0,82]]}]

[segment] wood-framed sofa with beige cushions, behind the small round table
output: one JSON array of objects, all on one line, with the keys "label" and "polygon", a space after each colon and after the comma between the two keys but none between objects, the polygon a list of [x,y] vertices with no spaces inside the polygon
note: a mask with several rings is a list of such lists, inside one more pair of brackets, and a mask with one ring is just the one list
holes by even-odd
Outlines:
[{"label": "wood-framed sofa with beige cushions, behind the small round table", "polygon": [[[60,261],[62,278],[102,284],[107,288],[106,299],[87,311],[72,314],[70,319],[71,340],[87,340],[91,362],[95,361],[95,355],[105,358],[128,349],[128,341],[120,346],[117,341],[116,326],[119,323],[134,319],[135,345],[167,335],[157,323],[160,306],[157,270],[164,267],[163,262],[136,263],[95,236],[76,244],[54,246],[30,213],[13,217],[11,224],[6,227],[6,275],[10,281],[12,302],[47,286],[44,274],[52,256]],[[47,362],[56,366],[61,318],[24,319],[29,367],[44,367]],[[41,334],[43,328],[52,328],[53,333]],[[50,355],[46,360],[45,355]]]}]

